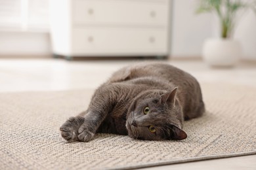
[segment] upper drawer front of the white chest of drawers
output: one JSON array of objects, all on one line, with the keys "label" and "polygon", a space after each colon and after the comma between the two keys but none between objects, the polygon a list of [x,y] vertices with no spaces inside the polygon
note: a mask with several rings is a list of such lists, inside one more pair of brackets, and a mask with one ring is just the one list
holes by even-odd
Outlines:
[{"label": "upper drawer front of the white chest of drawers", "polygon": [[75,0],[74,24],[167,25],[169,1]]}]

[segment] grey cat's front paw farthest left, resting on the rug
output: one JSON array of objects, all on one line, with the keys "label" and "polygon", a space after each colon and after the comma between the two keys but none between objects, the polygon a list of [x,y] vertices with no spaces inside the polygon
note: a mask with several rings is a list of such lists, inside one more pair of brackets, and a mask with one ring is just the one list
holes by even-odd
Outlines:
[{"label": "grey cat's front paw farthest left, resting on the rug", "polygon": [[76,116],[69,118],[62,126],[60,126],[61,135],[68,142],[78,141],[78,129],[83,124],[85,118]]}]

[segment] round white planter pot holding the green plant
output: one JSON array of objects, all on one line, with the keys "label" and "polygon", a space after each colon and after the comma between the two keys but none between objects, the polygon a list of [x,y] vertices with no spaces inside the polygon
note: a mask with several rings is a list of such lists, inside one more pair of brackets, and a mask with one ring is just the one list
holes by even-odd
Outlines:
[{"label": "round white planter pot holding the green plant", "polygon": [[214,67],[232,67],[242,55],[239,41],[229,39],[207,39],[203,44],[203,59]]}]

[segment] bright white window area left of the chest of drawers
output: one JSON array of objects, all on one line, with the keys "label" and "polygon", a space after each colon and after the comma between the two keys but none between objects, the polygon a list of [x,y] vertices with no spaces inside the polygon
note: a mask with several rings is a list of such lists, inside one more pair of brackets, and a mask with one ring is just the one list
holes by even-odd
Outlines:
[{"label": "bright white window area left of the chest of drawers", "polygon": [[0,31],[49,31],[48,0],[0,0]]}]

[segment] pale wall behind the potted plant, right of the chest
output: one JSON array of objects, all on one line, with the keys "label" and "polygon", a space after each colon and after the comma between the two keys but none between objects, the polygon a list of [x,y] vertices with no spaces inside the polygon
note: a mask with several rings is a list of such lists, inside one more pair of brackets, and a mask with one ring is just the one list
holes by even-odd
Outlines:
[{"label": "pale wall behind the potted plant, right of the chest", "polygon": [[[203,41],[220,36],[219,19],[213,14],[195,14],[198,0],[173,0],[173,58],[201,56]],[[256,14],[248,11],[240,17],[234,32],[243,47],[244,59],[256,60]]]}]

